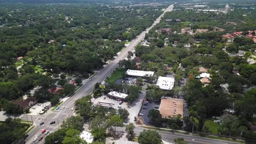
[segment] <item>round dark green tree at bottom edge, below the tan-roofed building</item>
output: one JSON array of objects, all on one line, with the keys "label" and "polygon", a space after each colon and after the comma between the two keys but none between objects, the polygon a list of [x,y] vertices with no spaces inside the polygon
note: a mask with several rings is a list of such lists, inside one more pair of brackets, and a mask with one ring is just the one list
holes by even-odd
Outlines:
[{"label": "round dark green tree at bottom edge, below the tan-roofed building", "polygon": [[138,137],[141,144],[161,144],[161,135],[155,130],[143,130]]}]

